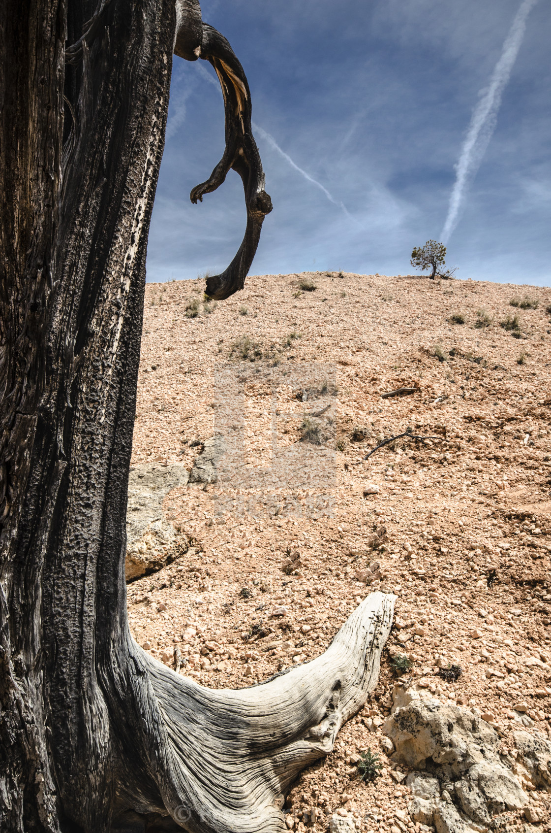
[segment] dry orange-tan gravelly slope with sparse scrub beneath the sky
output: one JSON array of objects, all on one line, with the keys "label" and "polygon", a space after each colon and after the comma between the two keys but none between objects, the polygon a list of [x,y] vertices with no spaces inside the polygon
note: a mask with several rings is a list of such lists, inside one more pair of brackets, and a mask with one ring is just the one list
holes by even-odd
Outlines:
[{"label": "dry orange-tan gravelly slope with sparse scrub beneath the sky", "polygon": [[[521,724],[549,735],[551,291],[336,273],[250,277],[219,304],[203,288],[146,287],[132,465],[191,470],[216,431],[236,431],[233,456],[166,496],[171,555],[192,546],[128,586],[133,632],[203,685],[243,686],[324,651],[370,587],[394,591],[380,686],[295,787],[288,823],[323,808],[322,830],[346,806],[362,830],[412,828],[380,750],[390,656],[478,709],[504,751]],[[399,387],[415,390],[381,398]],[[323,465],[293,479],[305,416],[326,405],[309,446]],[[407,428],[435,438],[361,461]],[[448,663],[459,680],[437,676]],[[375,786],[350,766],[366,747],[385,764]]]}]

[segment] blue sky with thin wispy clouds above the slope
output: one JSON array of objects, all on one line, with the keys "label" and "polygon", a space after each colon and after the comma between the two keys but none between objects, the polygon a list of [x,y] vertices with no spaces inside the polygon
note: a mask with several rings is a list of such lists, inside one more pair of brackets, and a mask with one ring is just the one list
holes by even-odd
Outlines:
[{"label": "blue sky with thin wispy clouds above the slope", "polygon": [[[412,248],[441,235],[471,116],[519,6],[203,0],[203,19],[245,68],[261,128],[274,211],[251,273],[409,273]],[[551,285],[550,35],[551,4],[539,0],[449,238],[457,277]],[[224,147],[215,80],[207,62],[174,58],[148,281],[218,272],[241,243],[246,217],[234,172],[202,204],[189,200]]]}]

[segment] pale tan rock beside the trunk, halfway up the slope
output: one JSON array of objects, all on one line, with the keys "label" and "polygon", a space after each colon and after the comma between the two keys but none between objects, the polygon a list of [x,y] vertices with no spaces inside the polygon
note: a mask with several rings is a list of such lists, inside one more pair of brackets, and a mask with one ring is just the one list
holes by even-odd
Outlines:
[{"label": "pale tan rock beside the trunk, halfway up the slope", "polygon": [[[169,491],[185,486],[188,472],[181,464],[134,466],[128,479],[127,581],[160,570],[166,563],[176,530],[162,504]],[[183,536],[178,540],[185,546]]]}]

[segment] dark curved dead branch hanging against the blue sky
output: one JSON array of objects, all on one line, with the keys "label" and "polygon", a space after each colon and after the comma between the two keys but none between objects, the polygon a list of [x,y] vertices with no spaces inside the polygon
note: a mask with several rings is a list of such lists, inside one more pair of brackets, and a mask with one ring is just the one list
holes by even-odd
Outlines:
[{"label": "dark curved dead branch hanging against the blue sky", "polygon": [[202,202],[204,194],[216,191],[231,169],[241,177],[245,192],[247,223],[243,242],[230,266],[220,275],[206,279],[207,294],[223,300],[244,287],[261,237],[262,222],[271,212],[272,204],[265,190],[261,156],[252,135],[251,91],[243,67],[226,37],[208,23],[201,22],[201,8],[196,0],[181,0],[176,11],[174,52],[186,61],[201,57],[214,67],[224,97],[226,122],[224,155],[208,180],[193,188],[191,202]]}]

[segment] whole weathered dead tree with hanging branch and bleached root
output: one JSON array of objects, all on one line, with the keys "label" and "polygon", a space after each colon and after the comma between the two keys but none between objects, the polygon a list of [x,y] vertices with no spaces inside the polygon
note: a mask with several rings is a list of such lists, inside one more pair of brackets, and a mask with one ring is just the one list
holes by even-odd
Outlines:
[{"label": "whole weathered dead tree with hanging branch and bleached root", "polygon": [[225,156],[192,197],[230,167],[246,192],[246,237],[212,294],[242,286],[271,207],[246,78],[200,14],[195,0],[0,7],[2,833],[146,831],[151,814],[165,830],[281,831],[286,788],[365,701],[390,630],[393,597],[373,594],[323,656],[244,691],[197,686],[128,631],[146,240],[176,33],[226,97]]}]

